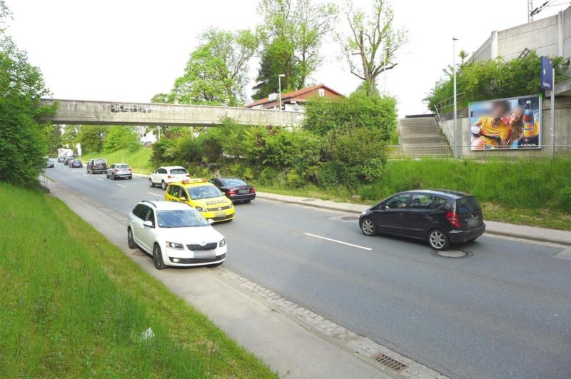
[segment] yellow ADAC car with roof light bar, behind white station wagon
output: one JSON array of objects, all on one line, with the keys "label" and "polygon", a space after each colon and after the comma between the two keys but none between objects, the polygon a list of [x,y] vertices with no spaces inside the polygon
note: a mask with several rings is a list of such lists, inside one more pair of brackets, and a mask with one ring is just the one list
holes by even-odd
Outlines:
[{"label": "yellow ADAC car with roof light bar, behind white station wagon", "polygon": [[187,203],[215,223],[232,221],[234,218],[232,201],[206,179],[194,178],[168,183],[165,200]]}]

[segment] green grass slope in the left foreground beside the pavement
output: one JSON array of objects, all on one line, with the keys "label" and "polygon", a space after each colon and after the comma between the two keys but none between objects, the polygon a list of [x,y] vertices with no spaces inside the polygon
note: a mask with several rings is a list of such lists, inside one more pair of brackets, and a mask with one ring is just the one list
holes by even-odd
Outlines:
[{"label": "green grass slope in the left foreground beside the pavement", "polygon": [[56,198],[0,183],[0,218],[0,378],[276,377]]}]

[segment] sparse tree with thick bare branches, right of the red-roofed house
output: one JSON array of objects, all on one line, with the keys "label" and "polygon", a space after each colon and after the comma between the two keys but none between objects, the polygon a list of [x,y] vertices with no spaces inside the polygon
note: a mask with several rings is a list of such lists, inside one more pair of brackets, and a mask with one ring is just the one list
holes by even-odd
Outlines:
[{"label": "sparse tree with thick bare branches, right of the red-roofed house", "polygon": [[395,54],[405,43],[405,31],[393,28],[393,9],[385,0],[375,0],[368,15],[350,4],[345,16],[350,34],[340,39],[351,74],[363,80],[368,94],[374,94],[377,77],[398,64]]}]

